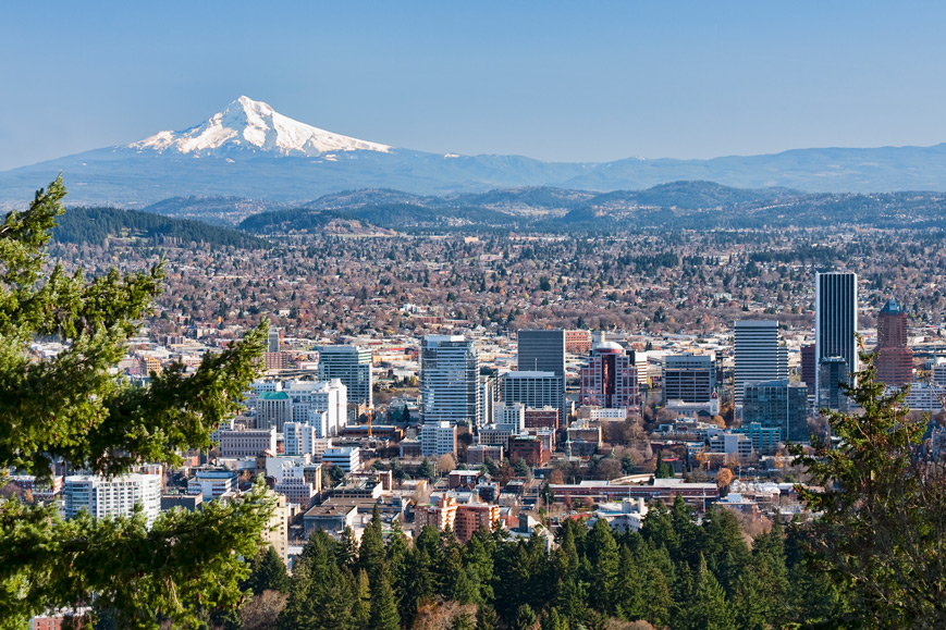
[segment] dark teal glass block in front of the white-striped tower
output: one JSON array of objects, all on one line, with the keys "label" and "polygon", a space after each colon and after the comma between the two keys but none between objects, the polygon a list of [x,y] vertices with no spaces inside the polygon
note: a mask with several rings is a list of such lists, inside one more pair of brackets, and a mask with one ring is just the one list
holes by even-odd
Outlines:
[{"label": "dark teal glass block in front of the white-striped tower", "polygon": [[807,442],[808,387],[788,379],[746,383],[742,425],[752,422],[779,428],[783,441]]}]

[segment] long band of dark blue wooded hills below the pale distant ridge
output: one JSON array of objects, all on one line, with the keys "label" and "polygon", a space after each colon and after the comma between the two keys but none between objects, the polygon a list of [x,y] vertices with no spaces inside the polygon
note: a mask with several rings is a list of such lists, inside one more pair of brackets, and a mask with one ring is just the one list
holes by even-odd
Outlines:
[{"label": "long band of dark blue wooded hills below the pale distant ridge", "polygon": [[402,232],[600,233],[831,225],[946,228],[943,193],[803,194],[788,188],[733,188],[702,181],[604,194],[517,188],[435,197],[357,190],[330,195],[308,206],[256,214],[244,220],[241,228],[259,234],[314,232],[340,219]]}]

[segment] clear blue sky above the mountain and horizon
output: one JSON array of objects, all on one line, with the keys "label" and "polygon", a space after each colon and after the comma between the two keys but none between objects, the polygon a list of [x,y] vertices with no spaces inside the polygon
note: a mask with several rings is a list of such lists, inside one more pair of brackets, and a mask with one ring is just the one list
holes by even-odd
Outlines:
[{"label": "clear blue sky above the mountain and horizon", "polygon": [[337,133],[544,160],[946,141],[944,2],[4,2],[0,170],[239,95]]}]

